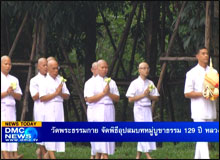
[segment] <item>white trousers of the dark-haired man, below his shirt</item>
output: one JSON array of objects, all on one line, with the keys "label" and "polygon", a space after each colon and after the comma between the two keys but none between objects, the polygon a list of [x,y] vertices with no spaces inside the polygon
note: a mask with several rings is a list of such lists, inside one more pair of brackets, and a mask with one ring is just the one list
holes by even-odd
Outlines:
[{"label": "white trousers of the dark-haired man, below his shirt", "polygon": [[[193,119],[194,122],[211,122],[211,119]],[[196,142],[194,159],[210,159],[208,142]]]}]

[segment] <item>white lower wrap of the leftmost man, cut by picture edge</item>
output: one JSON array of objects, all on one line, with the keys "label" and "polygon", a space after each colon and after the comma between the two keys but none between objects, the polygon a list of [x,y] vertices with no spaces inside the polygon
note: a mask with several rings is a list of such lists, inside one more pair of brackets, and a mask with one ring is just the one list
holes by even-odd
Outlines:
[{"label": "white lower wrap of the leftmost man, cut by picture edge", "polygon": [[[1,122],[2,121],[16,121],[15,106],[7,106],[1,103]],[[2,142],[1,139],[1,151],[15,152],[17,151],[17,149],[18,149],[18,143],[5,143]]]}]

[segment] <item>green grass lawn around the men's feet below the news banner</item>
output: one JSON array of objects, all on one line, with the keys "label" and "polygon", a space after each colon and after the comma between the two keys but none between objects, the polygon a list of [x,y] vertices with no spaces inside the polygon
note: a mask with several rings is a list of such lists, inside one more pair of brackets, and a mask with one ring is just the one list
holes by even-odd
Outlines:
[{"label": "green grass lawn around the men's feet below the news banner", "polygon": [[[88,144],[88,143],[87,143]],[[124,142],[122,145],[117,143],[114,155],[110,159],[135,159],[136,157],[135,142]],[[24,154],[24,159],[36,159],[37,145],[33,143],[20,143],[18,152]],[[210,159],[219,159],[219,143],[211,143]],[[89,159],[90,145],[66,143],[65,153],[56,153],[57,159]],[[162,147],[157,147],[156,151],[151,152],[154,159],[193,159],[195,152],[194,142],[181,142],[176,145],[171,142],[164,142]],[[145,159],[142,154],[142,159]]]}]

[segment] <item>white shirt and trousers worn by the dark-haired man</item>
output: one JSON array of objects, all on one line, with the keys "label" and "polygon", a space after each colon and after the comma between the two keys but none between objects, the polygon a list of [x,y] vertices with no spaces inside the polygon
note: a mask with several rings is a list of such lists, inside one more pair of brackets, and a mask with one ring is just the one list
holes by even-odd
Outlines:
[{"label": "white shirt and trousers worn by the dark-haired man", "polygon": [[[205,74],[210,67],[203,68],[199,64],[186,73],[184,93],[202,92]],[[217,71],[214,70],[216,73]],[[209,122],[216,119],[216,101],[204,97],[191,98],[191,118],[194,122]],[[196,142],[195,159],[209,159],[208,142]]]}]

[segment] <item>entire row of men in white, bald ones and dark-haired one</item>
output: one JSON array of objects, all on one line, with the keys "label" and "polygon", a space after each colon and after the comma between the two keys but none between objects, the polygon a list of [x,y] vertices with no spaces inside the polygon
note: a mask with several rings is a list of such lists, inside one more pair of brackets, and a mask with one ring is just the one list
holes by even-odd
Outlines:
[{"label": "entire row of men in white, bald ones and dark-haired one", "polygon": [[[208,71],[208,50],[200,48],[196,54],[198,64],[186,74],[184,94],[191,99],[191,114],[195,122],[213,121],[216,118],[215,102],[203,97],[202,83]],[[11,59],[1,57],[1,121],[16,121],[15,100],[20,100],[22,91],[16,77],[9,74]],[[58,74],[59,65],[55,58],[40,58],[38,74],[30,81],[30,93],[34,101],[34,120],[45,122],[64,122],[63,100],[69,98],[65,82]],[[126,97],[134,102],[134,121],[152,122],[152,101],[159,100],[159,93],[153,81],[147,77],[150,67],[146,62],[138,66],[139,76],[133,80],[127,90]],[[116,82],[106,80],[108,64],[99,60],[92,64],[93,76],[84,85],[84,98],[88,105],[87,119],[89,122],[114,122],[114,102],[120,99]],[[16,82],[13,88],[11,83]],[[152,87],[153,86],[153,87]],[[21,158],[17,154],[17,143],[1,143],[3,158]],[[38,158],[55,159],[55,151],[64,152],[64,142],[38,143],[36,151]],[[136,159],[144,152],[151,159],[149,152],[156,150],[155,142],[138,142]],[[108,159],[115,152],[115,142],[91,142],[91,159]],[[209,158],[208,142],[196,144],[195,158]]]}]

